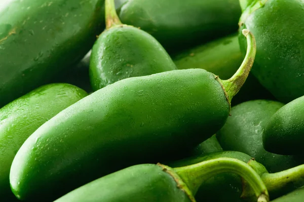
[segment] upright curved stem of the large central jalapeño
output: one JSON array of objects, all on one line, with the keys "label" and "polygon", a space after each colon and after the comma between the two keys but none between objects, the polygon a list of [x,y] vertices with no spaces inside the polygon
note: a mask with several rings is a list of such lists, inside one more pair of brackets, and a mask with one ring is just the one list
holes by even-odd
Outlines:
[{"label": "upright curved stem of the large central jalape\u00f1o", "polygon": [[256,44],[253,34],[248,29],[243,29],[242,33],[247,38],[247,52],[244,61],[230,79],[221,80],[230,102],[245,83],[255,58]]}]

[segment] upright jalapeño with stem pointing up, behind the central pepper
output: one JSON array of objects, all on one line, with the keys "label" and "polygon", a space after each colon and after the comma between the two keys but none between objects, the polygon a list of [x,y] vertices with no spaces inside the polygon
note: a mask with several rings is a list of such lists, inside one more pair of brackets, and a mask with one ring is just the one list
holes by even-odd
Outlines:
[{"label": "upright jalape\u00f1o with stem pointing up, behind the central pepper", "polygon": [[176,70],[162,45],[147,32],[122,24],[113,0],[106,0],[106,29],[95,42],[90,61],[94,90],[129,77]]}]

